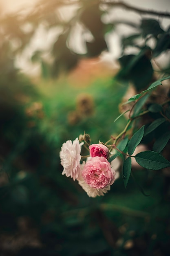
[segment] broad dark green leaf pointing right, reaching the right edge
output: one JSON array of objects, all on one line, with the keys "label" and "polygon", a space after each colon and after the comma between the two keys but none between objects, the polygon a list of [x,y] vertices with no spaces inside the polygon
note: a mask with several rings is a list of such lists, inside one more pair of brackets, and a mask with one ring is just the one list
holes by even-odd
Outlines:
[{"label": "broad dark green leaf pointing right, reaching the right edge", "polygon": [[149,170],[160,170],[162,168],[170,167],[170,162],[154,151],[144,151],[135,155],[136,162]]}]

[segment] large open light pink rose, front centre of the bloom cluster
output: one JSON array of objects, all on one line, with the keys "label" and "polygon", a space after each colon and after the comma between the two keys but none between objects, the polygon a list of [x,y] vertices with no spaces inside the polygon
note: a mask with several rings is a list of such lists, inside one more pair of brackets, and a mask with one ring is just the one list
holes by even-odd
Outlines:
[{"label": "large open light pink rose, front centre of the bloom cluster", "polygon": [[115,181],[115,170],[105,157],[92,157],[82,171],[84,181],[95,189],[104,189]]}]

